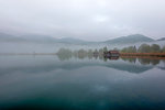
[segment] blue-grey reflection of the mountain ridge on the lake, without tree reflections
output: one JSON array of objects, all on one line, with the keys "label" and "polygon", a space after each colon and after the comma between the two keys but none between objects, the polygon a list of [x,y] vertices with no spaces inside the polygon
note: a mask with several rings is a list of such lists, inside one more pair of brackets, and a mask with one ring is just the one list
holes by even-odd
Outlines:
[{"label": "blue-grey reflection of the mountain ridge on the lake, without tree reflections", "polygon": [[[26,58],[26,57],[25,57]],[[70,59],[70,61],[65,61],[65,62],[61,62],[58,59],[54,59],[55,57],[51,57],[51,61],[46,61],[46,58],[44,59],[45,62],[42,63],[37,63],[33,57],[30,57],[31,62],[28,64],[24,64],[25,66],[22,66],[22,62],[19,58],[16,59],[16,64],[11,65],[9,67],[0,67],[1,69],[1,74],[10,74],[10,73],[14,73],[14,72],[26,72],[26,73],[34,73],[34,74],[40,74],[40,73],[46,73],[46,72],[54,72],[56,73],[56,70],[73,70],[73,69],[78,69],[78,68],[82,68],[82,67],[91,67],[91,66],[102,66],[102,67],[108,67],[108,68],[114,68],[118,70],[123,70],[123,72],[129,72],[129,73],[135,73],[135,74],[140,74],[143,73],[145,70],[152,69],[153,66],[148,66],[148,65],[138,65],[138,64],[131,64],[131,63],[127,63],[123,61],[107,61],[107,62],[100,62],[100,61],[95,61],[95,59],[82,59],[82,61],[77,61],[75,62],[75,59]],[[37,56],[36,56],[37,58]],[[44,57],[43,57],[44,58]],[[24,62],[29,61],[24,59]],[[41,59],[43,61],[43,59]],[[2,65],[2,64],[1,64]],[[7,65],[8,66],[8,65]],[[8,68],[8,69],[7,69]]]}]

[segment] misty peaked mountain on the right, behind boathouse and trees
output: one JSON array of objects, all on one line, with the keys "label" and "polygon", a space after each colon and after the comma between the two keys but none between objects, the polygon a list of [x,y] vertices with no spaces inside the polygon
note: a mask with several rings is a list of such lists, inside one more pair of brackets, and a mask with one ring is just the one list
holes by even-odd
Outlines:
[{"label": "misty peaked mountain on the right, behind boathouse and trees", "polygon": [[141,34],[133,34],[128,36],[121,36],[113,40],[105,41],[103,43],[107,44],[134,44],[140,42],[153,42],[153,38],[150,38],[147,36],[141,35]]}]

